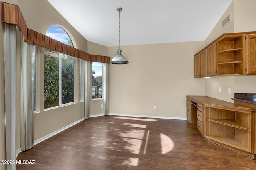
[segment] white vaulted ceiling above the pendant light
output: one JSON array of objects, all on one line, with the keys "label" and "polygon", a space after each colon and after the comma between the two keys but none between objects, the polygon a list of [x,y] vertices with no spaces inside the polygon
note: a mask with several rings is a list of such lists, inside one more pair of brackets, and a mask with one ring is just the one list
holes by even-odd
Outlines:
[{"label": "white vaulted ceiling above the pendant light", "polygon": [[88,41],[120,46],[202,41],[232,0],[48,0]]}]

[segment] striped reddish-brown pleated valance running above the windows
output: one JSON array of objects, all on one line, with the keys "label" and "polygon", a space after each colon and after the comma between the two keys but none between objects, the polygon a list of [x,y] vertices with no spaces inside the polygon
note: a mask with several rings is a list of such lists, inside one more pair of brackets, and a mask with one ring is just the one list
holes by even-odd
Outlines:
[{"label": "striped reddish-brown pleated valance running above the windows", "polygon": [[58,51],[60,53],[71,55],[86,61],[95,61],[101,63],[110,62],[110,57],[108,56],[88,54],[84,51],[71,47],[70,45],[66,45],[60,41],[47,37],[44,34],[27,28],[26,22],[18,5],[2,2],[2,22],[16,25],[24,36],[24,41],[27,43]]}]

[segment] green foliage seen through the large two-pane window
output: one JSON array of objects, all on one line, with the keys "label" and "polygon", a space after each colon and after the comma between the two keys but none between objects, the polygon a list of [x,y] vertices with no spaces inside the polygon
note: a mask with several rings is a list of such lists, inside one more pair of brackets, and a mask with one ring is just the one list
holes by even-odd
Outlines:
[{"label": "green foliage seen through the large two-pane window", "polygon": [[[45,49],[46,51],[56,53]],[[62,55],[62,104],[74,102],[74,57]],[[58,106],[59,101],[59,59],[44,55],[44,108]]]}]

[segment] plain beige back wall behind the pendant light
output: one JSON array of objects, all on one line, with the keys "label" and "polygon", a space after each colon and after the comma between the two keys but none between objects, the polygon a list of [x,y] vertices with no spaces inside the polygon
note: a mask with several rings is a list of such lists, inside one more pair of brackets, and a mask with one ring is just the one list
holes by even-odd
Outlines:
[{"label": "plain beige back wall behind the pendant light", "polygon": [[[121,46],[130,63],[109,65],[109,112],[186,118],[186,95],[204,95],[194,54],[204,41]],[[118,47],[109,47],[112,56]],[[153,110],[156,106],[156,110]]]}]

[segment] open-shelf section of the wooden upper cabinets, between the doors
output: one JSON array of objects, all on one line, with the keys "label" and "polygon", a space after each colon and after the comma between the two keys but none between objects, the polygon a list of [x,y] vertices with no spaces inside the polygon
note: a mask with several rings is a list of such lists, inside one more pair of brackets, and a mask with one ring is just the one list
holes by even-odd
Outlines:
[{"label": "open-shelf section of the wooden upper cabinets, between the doors", "polygon": [[246,67],[244,34],[223,35],[217,40],[217,75],[244,75]]}]

